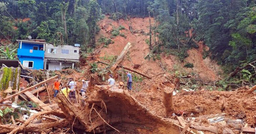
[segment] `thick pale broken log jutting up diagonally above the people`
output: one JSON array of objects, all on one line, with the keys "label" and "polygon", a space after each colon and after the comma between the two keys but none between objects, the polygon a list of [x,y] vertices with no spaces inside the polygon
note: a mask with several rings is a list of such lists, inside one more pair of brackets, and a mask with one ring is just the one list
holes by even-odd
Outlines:
[{"label": "thick pale broken log jutting up diagonally above the people", "polygon": [[125,57],[125,55],[129,52],[129,50],[131,49],[132,45],[131,43],[127,43],[126,46],[123,48],[123,51],[121,52],[121,54],[117,57],[115,63],[113,63],[110,66],[110,70],[112,72],[114,72],[114,70],[118,67],[118,65],[121,63],[121,61],[123,60],[123,58]]}]

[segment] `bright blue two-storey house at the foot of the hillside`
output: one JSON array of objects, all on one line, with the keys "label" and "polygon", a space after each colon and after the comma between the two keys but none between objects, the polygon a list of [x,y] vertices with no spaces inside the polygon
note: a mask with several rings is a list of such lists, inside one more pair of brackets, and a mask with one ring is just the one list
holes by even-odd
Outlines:
[{"label": "bright blue two-storey house at the foot of the hillside", "polygon": [[31,69],[44,69],[44,40],[17,40],[19,49],[17,56],[22,65]]}]

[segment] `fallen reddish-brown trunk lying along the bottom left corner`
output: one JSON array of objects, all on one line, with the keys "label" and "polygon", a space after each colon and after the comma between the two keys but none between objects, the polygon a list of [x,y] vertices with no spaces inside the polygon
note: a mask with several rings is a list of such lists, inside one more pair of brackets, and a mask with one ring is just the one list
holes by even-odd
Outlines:
[{"label": "fallen reddish-brown trunk lying along the bottom left corner", "polygon": [[[52,127],[62,128],[68,126],[68,121],[66,119],[62,119],[56,122],[50,123],[38,123],[38,124],[29,124],[25,128],[18,131],[18,133],[28,133],[28,132],[45,132],[47,129]],[[12,130],[16,129],[19,126],[13,125],[0,125],[0,134],[10,133]]]}]

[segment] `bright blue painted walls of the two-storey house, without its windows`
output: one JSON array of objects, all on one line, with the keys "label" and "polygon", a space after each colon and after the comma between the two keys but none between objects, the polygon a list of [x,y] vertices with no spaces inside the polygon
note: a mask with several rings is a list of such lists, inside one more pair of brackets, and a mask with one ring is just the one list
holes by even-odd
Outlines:
[{"label": "bright blue painted walls of the two-storey house, without its windows", "polygon": [[[44,66],[44,51],[40,51],[40,47],[43,48],[43,45],[39,44],[30,44],[30,43],[22,43],[22,48],[20,49],[21,43],[19,43],[19,49],[17,56],[23,64],[23,61],[33,61],[33,69],[43,69]],[[33,46],[38,46],[39,50],[33,50],[30,53],[30,50],[33,49]]]}]

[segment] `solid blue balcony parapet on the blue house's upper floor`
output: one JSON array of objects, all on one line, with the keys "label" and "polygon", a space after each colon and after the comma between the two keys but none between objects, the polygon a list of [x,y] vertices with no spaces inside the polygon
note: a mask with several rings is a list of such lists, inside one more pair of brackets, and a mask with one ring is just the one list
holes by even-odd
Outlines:
[{"label": "solid blue balcony parapet on the blue house's upper floor", "polygon": [[26,57],[42,57],[44,58],[43,50],[32,50],[32,49],[18,49],[18,56],[26,56]]}]

